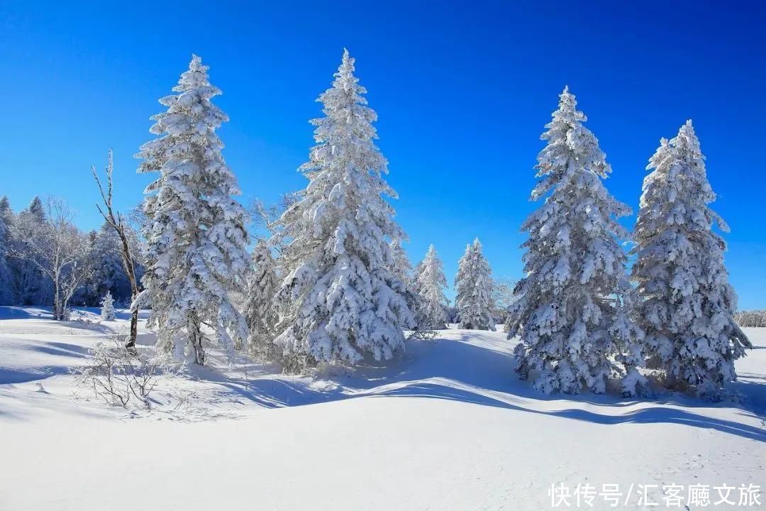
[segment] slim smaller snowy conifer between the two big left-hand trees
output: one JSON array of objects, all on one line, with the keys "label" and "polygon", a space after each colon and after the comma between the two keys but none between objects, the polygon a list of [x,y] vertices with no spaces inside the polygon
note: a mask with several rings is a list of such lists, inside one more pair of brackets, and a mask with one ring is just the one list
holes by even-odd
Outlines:
[{"label": "slim smaller snowy conifer between the two big left-hand trees", "polygon": [[274,294],[277,292],[277,267],[268,244],[259,240],[253,249],[250,271],[247,274],[244,317],[250,336],[247,351],[258,359],[272,359],[277,346],[273,344],[277,326]]}]

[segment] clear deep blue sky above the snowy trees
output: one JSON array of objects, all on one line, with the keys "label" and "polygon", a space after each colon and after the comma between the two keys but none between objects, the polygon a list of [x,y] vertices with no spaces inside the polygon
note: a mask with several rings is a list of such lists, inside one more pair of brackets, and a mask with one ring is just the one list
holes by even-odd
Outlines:
[{"label": "clear deep blue sky above the snowy trees", "polygon": [[112,147],[116,202],[138,203],[150,178],[133,154],[194,52],[224,90],[242,201],[273,201],[305,185],[307,121],[348,47],[412,260],[434,243],[451,281],[478,236],[496,276],[521,275],[539,136],[568,84],[614,168],[607,187],[633,209],[660,137],[694,121],[740,306],[766,307],[764,14],[755,2],[0,1],[0,195],[17,210],[62,195],[96,228],[90,165]]}]

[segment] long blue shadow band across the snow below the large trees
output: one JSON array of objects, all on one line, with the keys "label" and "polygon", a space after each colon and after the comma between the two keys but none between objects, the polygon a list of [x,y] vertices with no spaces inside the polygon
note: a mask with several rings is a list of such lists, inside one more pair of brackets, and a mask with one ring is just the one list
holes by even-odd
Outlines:
[{"label": "long blue shadow band across the snow below the large trees", "polygon": [[[476,345],[476,341],[482,343]],[[544,395],[512,372],[507,345],[480,332],[459,335],[457,340],[408,342],[407,352],[398,361],[382,366],[369,363],[349,375],[334,377],[300,377],[264,374],[252,365],[247,378],[231,378],[214,369],[201,369],[195,376],[225,391],[266,408],[312,405],[358,397],[434,398],[474,405],[493,406],[533,414],[550,415],[594,424],[683,424],[713,429],[756,441],[766,441],[766,429],[736,421],[712,418],[691,409],[728,408],[735,405],[715,404],[667,395],[656,401],[637,401],[610,395]],[[494,347],[496,346],[496,348]],[[766,385],[738,382],[735,390],[749,398],[749,408],[766,410]],[[540,409],[541,401],[565,405],[572,401],[588,407],[604,408],[604,413],[581,408]],[[646,408],[624,410],[645,403]],[[687,409],[665,405],[683,406]],[[738,407],[743,418],[758,418]],[[624,411],[623,411],[624,410]]]}]

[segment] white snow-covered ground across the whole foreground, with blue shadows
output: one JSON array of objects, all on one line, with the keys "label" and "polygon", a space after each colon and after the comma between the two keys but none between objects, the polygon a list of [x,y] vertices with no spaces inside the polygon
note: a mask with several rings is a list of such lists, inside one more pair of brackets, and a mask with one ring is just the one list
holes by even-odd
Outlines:
[{"label": "white snow-covered ground across the whole foreground, with blue shadows", "polygon": [[[0,307],[2,511],[564,509],[552,484],[593,485],[581,509],[608,509],[604,484],[619,485],[619,509],[644,509],[647,488],[664,509],[669,484],[683,503],[698,484],[711,509],[766,509],[766,329],[748,329],[756,349],[737,364],[743,405],[545,397],[512,372],[502,332],[453,329],[352,375],[165,378],[146,413],[89,400],[69,373],[126,329],[124,311],[49,318]],[[761,506],[713,505],[713,486],[742,484],[764,489]]]}]

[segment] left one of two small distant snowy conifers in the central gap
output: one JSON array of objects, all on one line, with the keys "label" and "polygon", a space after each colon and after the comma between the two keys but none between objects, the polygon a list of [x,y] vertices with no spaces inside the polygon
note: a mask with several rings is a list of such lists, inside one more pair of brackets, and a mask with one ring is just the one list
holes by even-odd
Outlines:
[{"label": "left one of two small distant snowy conifers in the central gap", "polygon": [[426,257],[415,267],[415,291],[420,300],[415,310],[415,323],[419,330],[447,328],[447,307],[450,301],[444,294],[447,277],[434,245],[428,247]]}]

